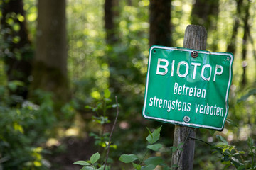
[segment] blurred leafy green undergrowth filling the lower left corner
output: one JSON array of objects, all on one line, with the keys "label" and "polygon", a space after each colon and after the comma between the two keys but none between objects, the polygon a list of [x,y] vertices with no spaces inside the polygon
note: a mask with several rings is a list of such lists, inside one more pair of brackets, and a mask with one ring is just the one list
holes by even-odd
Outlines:
[{"label": "blurred leafy green undergrowth filling the lower left corner", "polygon": [[[7,91],[9,86],[0,87]],[[8,95],[1,98],[0,169],[48,169],[50,162],[43,157],[46,151],[40,143],[47,140],[55,118],[46,94],[41,94],[39,105],[22,101],[21,107],[15,108],[8,105]]]}]

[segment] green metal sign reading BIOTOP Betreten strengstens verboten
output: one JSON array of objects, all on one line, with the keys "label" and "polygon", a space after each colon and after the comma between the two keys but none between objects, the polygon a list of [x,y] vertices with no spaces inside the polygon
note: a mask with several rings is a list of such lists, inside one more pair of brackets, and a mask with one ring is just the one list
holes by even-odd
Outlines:
[{"label": "green metal sign reading BIOTOP Betreten strengstens verboten", "polygon": [[228,115],[233,55],[153,46],[144,97],[144,118],[223,130]]}]

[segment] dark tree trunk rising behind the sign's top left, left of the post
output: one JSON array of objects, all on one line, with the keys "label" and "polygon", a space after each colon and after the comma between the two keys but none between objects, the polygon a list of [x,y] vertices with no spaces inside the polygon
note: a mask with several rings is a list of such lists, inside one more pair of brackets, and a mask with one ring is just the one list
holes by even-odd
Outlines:
[{"label": "dark tree trunk rising behind the sign's top left, left of the post", "polygon": [[150,0],[149,46],[171,46],[171,0]]}]

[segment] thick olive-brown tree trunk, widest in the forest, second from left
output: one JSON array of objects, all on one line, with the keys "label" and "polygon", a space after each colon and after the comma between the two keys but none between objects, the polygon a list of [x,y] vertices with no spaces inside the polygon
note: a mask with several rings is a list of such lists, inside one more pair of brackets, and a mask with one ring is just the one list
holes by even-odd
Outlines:
[{"label": "thick olive-brown tree trunk, widest in the forest, second from left", "polygon": [[[39,0],[32,89],[52,91],[55,103],[68,100],[65,0]],[[58,101],[58,102],[57,102]]]}]

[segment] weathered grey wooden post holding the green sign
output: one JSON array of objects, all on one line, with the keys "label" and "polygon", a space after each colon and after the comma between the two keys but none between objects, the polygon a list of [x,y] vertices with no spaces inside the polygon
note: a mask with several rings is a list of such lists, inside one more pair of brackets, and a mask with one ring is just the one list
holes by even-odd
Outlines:
[{"label": "weathered grey wooden post holding the green sign", "polygon": [[[189,25],[185,30],[183,47],[194,50],[206,50],[206,39],[206,28],[202,26]],[[182,151],[177,149],[172,155],[172,165],[178,165],[176,169],[193,169],[195,140],[191,138],[195,137],[195,128],[175,125],[174,147],[182,147]],[[183,143],[183,145],[178,146],[180,143]]]}]

